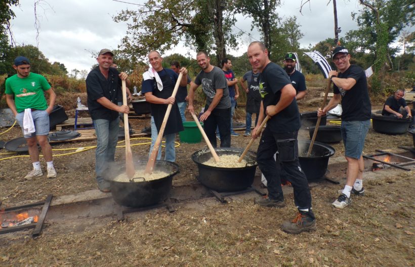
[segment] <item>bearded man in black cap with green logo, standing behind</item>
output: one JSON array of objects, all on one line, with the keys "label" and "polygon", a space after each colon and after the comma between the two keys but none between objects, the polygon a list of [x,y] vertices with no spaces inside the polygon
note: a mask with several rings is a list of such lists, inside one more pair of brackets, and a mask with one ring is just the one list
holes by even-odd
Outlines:
[{"label": "bearded man in black cap with green logo, standing behind", "polygon": [[297,58],[294,53],[288,53],[284,57],[284,69],[288,74],[291,84],[296,89],[296,100],[304,98],[306,95],[306,78],[304,75],[296,70]]}]

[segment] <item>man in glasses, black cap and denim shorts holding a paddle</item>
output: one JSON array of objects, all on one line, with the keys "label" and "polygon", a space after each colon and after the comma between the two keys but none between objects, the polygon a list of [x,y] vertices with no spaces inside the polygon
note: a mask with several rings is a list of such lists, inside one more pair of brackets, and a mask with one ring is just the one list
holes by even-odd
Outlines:
[{"label": "man in glasses, black cap and denim shorts holding a paddle", "polygon": [[336,47],[333,51],[333,62],[338,71],[331,70],[328,75],[334,83],[334,96],[317,113],[318,116],[323,116],[342,102],[341,132],[347,160],[347,177],[346,185],[343,190],[339,190],[339,197],[333,202],[333,206],[344,208],[351,202],[352,193],[364,193],[362,151],[370,126],[371,104],[365,72],[359,66],[350,64],[349,51],[343,46]]}]

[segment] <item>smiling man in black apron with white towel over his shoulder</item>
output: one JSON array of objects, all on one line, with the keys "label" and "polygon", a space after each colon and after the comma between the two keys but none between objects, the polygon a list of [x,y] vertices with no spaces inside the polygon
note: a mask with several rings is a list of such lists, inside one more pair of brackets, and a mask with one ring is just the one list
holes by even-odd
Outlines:
[{"label": "smiling man in black apron with white towel over his shoulder", "polygon": [[[164,129],[165,137],[165,154],[164,161],[175,162],[175,138],[176,133],[183,131],[182,118],[179,107],[175,98],[172,97],[174,87],[179,75],[171,69],[164,69],[161,66],[162,58],[157,51],[150,51],[148,60],[151,67],[143,74],[142,93],[146,101],[150,103],[151,108],[151,147],[153,150],[154,143],[160,131],[165,112],[169,104],[173,104],[169,119]],[[181,86],[187,85],[187,70],[182,68],[183,78],[180,81]],[[157,153],[157,160],[161,159],[161,145]]]}]

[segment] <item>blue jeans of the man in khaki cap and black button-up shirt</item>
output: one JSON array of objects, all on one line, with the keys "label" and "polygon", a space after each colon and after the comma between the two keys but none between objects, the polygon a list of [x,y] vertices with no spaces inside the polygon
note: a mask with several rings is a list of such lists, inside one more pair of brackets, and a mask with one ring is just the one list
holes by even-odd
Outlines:
[{"label": "blue jeans of the man in khaki cap and black button-up shirt", "polygon": [[97,135],[97,149],[95,150],[95,173],[97,182],[108,168],[108,163],[114,161],[115,147],[118,141],[119,118],[115,120],[93,120]]}]

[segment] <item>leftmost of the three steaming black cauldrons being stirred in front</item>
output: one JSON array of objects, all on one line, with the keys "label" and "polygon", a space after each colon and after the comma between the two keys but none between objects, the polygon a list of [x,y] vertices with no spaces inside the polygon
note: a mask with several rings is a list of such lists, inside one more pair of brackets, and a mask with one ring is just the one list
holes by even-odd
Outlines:
[{"label": "leftmost of the three steaming black cauldrons being stirred in front", "polygon": [[[146,161],[136,164],[136,170],[144,170]],[[172,188],[173,176],[179,172],[179,166],[173,162],[156,161],[154,170],[167,172],[169,175],[157,180],[142,181],[134,179],[133,182],[118,182],[113,179],[125,168],[114,166],[110,174],[104,179],[110,183],[111,194],[115,202],[128,207],[145,207],[157,204],[169,198]]]}]

